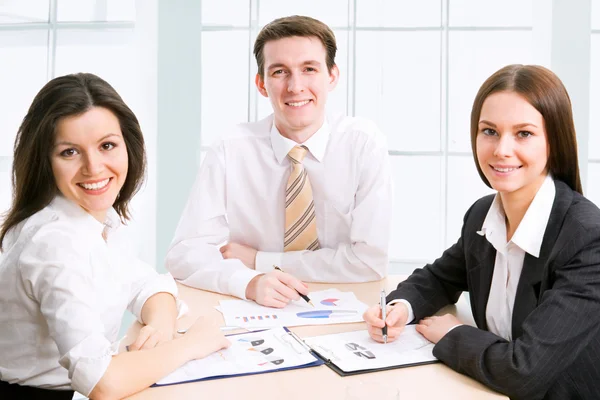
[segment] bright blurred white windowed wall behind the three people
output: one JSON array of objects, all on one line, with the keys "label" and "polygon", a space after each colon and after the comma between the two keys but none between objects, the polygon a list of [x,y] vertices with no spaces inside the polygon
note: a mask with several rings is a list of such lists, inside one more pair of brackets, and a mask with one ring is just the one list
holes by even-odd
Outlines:
[{"label": "bright blurred white windowed wall behind the three people", "polygon": [[474,168],[469,114],[506,64],[541,64],[563,80],[585,194],[600,205],[600,0],[0,0],[0,210],[34,95],[56,76],[98,74],[145,134],[148,179],[128,230],[163,271],[204,151],[224,127],[271,112],[254,87],[252,45],[264,24],[292,14],[335,31],[341,81],[329,111],[371,118],[387,135],[390,272],[438,257],[490,193]]}]

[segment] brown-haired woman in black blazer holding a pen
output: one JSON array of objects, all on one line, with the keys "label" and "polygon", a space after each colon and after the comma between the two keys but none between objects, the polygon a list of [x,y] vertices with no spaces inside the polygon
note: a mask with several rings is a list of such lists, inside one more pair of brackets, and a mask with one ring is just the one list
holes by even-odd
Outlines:
[{"label": "brown-haired woman in black blazer holding a pen", "polygon": [[[440,361],[513,399],[600,398],[600,210],[582,196],[562,82],[532,65],[493,74],[473,104],[471,145],[497,194],[389,294],[388,341],[417,323]],[[477,328],[431,317],[463,291]],[[379,306],[364,318],[382,341]]]}]

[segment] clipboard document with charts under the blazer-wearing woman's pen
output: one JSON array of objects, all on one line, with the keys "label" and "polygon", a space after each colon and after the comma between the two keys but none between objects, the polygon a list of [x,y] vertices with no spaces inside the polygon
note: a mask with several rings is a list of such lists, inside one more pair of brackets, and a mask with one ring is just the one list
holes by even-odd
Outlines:
[{"label": "clipboard document with charts under the blazer-wearing woman's pen", "polygon": [[304,343],[342,376],[437,362],[434,344],[415,325],[387,344],[374,341],[366,330],[308,337]]}]

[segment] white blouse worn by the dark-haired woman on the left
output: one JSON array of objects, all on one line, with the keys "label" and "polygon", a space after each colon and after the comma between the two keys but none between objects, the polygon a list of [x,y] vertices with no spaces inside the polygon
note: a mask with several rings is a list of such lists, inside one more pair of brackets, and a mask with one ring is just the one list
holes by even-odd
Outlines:
[{"label": "white blouse worn by the dark-haired woman on the left", "polygon": [[104,225],[58,196],[11,229],[0,259],[0,380],[88,396],[117,353],[125,310],[140,320],[150,296],[177,295],[170,275],[129,254],[120,224],[113,209]]}]

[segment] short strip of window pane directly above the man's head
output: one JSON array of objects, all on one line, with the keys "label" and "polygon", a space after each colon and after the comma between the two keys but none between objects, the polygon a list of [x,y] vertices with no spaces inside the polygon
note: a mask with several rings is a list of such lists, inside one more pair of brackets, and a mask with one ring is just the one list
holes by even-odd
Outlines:
[{"label": "short strip of window pane directly above the man's head", "polygon": [[316,18],[330,28],[348,26],[348,0],[261,0],[258,22],[266,25],[272,20],[290,15],[307,15]]}]

